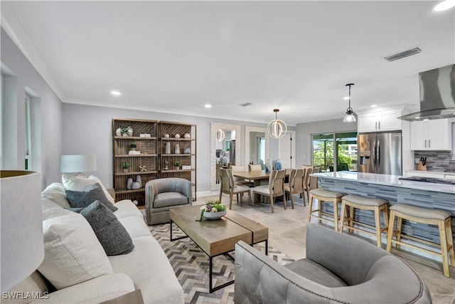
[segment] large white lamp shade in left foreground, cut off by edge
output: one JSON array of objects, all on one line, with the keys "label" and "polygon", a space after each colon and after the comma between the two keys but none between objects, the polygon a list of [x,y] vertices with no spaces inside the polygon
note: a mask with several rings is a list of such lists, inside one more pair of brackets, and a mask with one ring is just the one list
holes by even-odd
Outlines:
[{"label": "large white lamp shade in left foreground, cut off by edge", "polygon": [[40,174],[0,171],[1,292],[36,271],[44,258]]}]

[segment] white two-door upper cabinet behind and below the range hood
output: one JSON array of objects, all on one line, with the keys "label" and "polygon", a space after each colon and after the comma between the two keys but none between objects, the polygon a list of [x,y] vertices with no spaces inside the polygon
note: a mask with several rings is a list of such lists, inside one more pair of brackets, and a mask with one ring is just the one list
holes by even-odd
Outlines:
[{"label": "white two-door upper cabinet behind and below the range hood", "polygon": [[451,120],[411,122],[411,150],[451,150]]}]

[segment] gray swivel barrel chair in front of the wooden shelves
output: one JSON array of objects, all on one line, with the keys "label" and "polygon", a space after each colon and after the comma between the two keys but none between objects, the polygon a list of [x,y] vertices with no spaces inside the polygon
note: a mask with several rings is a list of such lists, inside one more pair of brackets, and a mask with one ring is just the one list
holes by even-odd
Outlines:
[{"label": "gray swivel barrel chair in front of the wooden shelves", "polygon": [[187,179],[152,179],[145,184],[145,208],[149,225],[168,223],[169,209],[192,204],[191,182]]}]

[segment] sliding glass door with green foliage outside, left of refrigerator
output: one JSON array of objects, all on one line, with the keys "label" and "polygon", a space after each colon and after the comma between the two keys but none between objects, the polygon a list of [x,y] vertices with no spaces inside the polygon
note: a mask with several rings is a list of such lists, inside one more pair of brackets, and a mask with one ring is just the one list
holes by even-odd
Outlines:
[{"label": "sliding glass door with green foliage outside, left of refrigerator", "polygon": [[357,132],[313,135],[313,165],[321,171],[357,171]]}]

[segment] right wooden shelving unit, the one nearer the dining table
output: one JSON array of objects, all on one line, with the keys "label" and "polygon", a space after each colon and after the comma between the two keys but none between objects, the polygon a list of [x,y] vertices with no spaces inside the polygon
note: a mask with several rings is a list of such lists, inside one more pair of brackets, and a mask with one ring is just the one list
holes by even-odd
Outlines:
[{"label": "right wooden shelving unit, the one nearer the dining table", "polygon": [[[180,135],[176,138],[176,134]],[[189,134],[189,138],[185,138]],[[169,135],[169,137],[165,137]],[[166,144],[170,143],[171,153],[166,154]],[[176,152],[176,145],[179,152]],[[189,153],[183,153],[189,149]],[[193,201],[196,201],[196,125],[181,122],[158,122],[158,158],[159,178],[180,177],[188,179],[193,185]],[[175,169],[174,162],[180,162],[180,167]],[[168,162],[168,169],[165,163]],[[182,169],[182,166],[191,166],[191,169]]]}]

